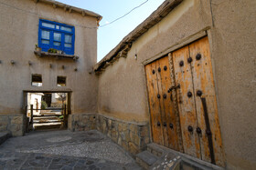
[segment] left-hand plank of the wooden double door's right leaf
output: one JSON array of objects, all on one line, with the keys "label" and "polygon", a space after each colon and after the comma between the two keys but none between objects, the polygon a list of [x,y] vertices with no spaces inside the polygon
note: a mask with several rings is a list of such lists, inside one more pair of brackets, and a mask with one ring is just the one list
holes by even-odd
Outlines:
[{"label": "left-hand plank of the wooden double door's right leaf", "polygon": [[[179,103],[178,108],[184,152],[187,155],[201,158],[200,144],[196,133],[197,112],[193,95],[191,68],[190,64],[187,63],[187,58],[189,57],[188,46],[176,50],[172,55],[176,75],[176,85],[180,85],[180,88],[176,90],[176,93]],[[192,96],[188,97],[188,92],[190,92]],[[188,131],[188,126],[193,128],[193,132]]]}]

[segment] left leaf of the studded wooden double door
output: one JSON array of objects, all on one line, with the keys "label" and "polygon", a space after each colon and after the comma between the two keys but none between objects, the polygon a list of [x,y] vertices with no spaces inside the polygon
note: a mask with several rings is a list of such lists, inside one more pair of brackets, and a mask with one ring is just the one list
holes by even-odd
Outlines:
[{"label": "left leaf of the studded wooden double door", "polygon": [[179,117],[175,109],[176,97],[169,91],[173,85],[169,58],[165,56],[145,66],[155,143],[182,151]]}]

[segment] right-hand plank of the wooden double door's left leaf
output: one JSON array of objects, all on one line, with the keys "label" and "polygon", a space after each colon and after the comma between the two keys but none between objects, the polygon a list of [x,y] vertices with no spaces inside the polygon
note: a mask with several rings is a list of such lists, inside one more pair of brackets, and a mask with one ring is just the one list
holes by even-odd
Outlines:
[{"label": "right-hand plank of the wooden double door's left leaf", "polygon": [[[163,127],[164,132],[166,133],[165,142],[167,142],[165,146],[170,147],[176,151],[180,151],[178,140],[179,135],[177,134],[178,126],[176,125],[175,107],[173,103],[174,98],[171,96],[171,93],[168,93],[168,89],[172,86],[168,56],[166,55],[165,57],[159,59],[158,62],[159,67],[161,68],[161,72],[159,74],[161,77],[160,81],[163,96],[161,102],[163,102],[163,113],[165,113],[165,126]],[[173,128],[170,127],[171,124],[173,125]]]}]

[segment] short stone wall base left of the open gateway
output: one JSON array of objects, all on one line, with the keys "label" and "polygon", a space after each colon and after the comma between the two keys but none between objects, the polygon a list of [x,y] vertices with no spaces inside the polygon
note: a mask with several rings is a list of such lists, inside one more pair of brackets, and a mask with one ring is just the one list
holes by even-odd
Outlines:
[{"label": "short stone wall base left of the open gateway", "polygon": [[0,132],[8,131],[13,136],[24,135],[23,115],[0,115]]}]

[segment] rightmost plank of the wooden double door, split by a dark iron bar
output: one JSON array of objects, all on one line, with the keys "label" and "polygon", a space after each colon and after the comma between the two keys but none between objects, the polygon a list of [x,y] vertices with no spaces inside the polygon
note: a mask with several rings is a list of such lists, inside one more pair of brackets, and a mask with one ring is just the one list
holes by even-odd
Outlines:
[{"label": "rightmost plank of the wooden double door, split by a dark iron bar", "polygon": [[[202,91],[201,97],[206,98],[208,107],[209,126],[212,134],[212,142],[214,149],[214,157],[217,165],[224,165],[222,140],[219,128],[219,115],[217,108],[216,93],[214,87],[212,65],[210,60],[208,37],[204,37],[197,42],[189,45],[190,56],[193,58],[191,63],[194,93],[198,90]],[[200,54],[199,56],[197,56]],[[197,108],[198,126],[202,130],[200,135],[202,159],[211,162],[208,135],[206,134],[206,121],[204,116],[204,108],[200,96],[195,96]]]}]

